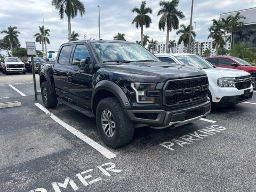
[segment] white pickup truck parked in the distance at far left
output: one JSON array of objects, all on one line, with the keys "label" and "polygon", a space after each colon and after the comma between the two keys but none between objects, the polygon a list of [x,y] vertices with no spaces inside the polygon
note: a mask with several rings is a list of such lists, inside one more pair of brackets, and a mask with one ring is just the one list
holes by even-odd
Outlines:
[{"label": "white pickup truck parked in the distance at far left", "polygon": [[5,57],[1,59],[2,72],[7,74],[22,72],[26,74],[25,64],[18,57]]}]

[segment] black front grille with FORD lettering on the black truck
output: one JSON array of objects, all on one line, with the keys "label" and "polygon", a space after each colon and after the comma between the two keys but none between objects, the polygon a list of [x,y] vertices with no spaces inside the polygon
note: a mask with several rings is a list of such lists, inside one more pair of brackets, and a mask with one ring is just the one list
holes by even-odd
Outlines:
[{"label": "black front grille with FORD lettering on the black truck", "polygon": [[163,104],[168,107],[186,105],[206,99],[208,78],[169,80],[164,86]]}]

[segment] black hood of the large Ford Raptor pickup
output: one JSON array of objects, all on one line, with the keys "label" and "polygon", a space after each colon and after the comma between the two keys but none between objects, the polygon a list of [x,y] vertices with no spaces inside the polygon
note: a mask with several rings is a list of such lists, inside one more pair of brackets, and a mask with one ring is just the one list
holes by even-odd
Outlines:
[{"label": "black hood of the large Ford Raptor pickup", "polygon": [[139,82],[164,82],[167,79],[203,76],[205,72],[188,66],[173,66],[166,62],[131,62],[105,64],[106,70],[134,76]]}]

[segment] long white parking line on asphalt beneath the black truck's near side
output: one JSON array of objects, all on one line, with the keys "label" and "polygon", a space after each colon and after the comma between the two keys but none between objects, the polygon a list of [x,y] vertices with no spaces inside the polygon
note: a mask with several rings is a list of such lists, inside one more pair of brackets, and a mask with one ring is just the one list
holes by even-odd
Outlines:
[{"label": "long white parking line on asphalt beneath the black truck's near side", "polygon": [[51,114],[50,111],[48,111],[46,108],[44,108],[39,103],[35,103],[35,105],[38,106],[38,108],[40,108],[43,112],[48,114],[50,116],[50,118],[52,118],[54,121],[56,121],[62,127],[64,127],[66,130],[68,130],[69,132],[71,132],[72,134],[74,134],[75,136],[77,136],[78,138],[80,138],[81,140],[83,140],[84,142],[89,144],[90,146],[92,146],[94,149],[96,149],[98,152],[100,152],[106,158],[112,159],[112,158],[116,157],[116,154],[114,154],[111,151],[109,151],[108,149],[104,148],[103,146],[101,146],[100,144],[95,142],[94,140],[90,139],[88,136],[82,134],[80,131],[76,130],[69,124],[66,124],[64,121],[60,120],[54,114]]}]

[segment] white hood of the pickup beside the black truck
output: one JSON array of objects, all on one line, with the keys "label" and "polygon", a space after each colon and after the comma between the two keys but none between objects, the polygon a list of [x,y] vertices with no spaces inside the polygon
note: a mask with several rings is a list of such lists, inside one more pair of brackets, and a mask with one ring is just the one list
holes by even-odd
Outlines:
[{"label": "white hood of the pickup beside the black truck", "polygon": [[204,72],[206,72],[207,76],[215,76],[218,78],[221,77],[240,77],[240,76],[246,76],[250,75],[248,72],[243,70],[237,70],[237,69],[229,69],[229,68],[210,68],[210,69],[204,69]]}]

